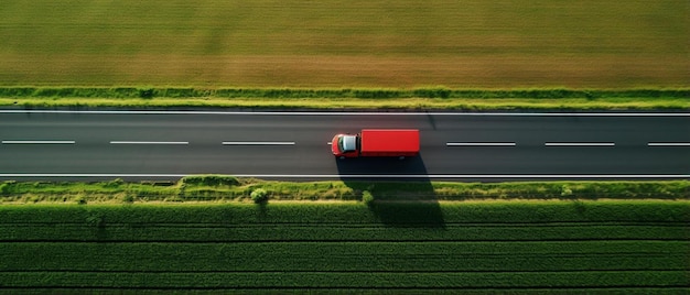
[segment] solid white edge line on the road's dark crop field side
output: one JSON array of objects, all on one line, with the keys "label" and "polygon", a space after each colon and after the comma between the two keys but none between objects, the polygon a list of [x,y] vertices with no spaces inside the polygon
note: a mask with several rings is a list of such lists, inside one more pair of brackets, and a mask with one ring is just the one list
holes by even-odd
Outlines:
[{"label": "solid white edge line on the road's dark crop field side", "polygon": [[[6,173],[0,174],[0,177],[184,177],[194,176],[200,174],[43,174],[43,173]],[[219,174],[220,175],[220,174]],[[482,174],[431,174],[431,175],[324,175],[324,174],[303,174],[303,175],[289,175],[289,174],[222,174],[235,177],[258,177],[258,178],[690,178],[690,174],[613,174],[613,175],[587,175],[587,174],[567,174],[567,175],[550,175],[550,174],[504,174],[504,175],[482,175]]]}]

